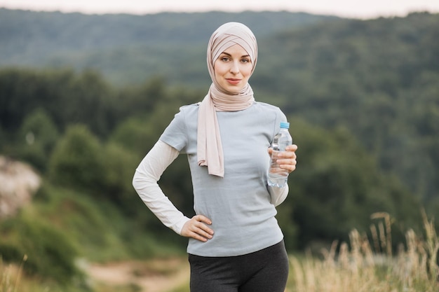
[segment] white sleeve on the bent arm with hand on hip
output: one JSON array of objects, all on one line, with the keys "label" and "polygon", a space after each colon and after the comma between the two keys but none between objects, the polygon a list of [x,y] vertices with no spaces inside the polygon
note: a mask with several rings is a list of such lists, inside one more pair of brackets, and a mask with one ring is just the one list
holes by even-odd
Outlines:
[{"label": "white sleeve on the bent arm with hand on hip", "polygon": [[158,140],[135,170],[133,187],[157,218],[180,235],[184,223],[189,221],[189,218],[170,202],[157,183],[178,154],[177,149]]}]

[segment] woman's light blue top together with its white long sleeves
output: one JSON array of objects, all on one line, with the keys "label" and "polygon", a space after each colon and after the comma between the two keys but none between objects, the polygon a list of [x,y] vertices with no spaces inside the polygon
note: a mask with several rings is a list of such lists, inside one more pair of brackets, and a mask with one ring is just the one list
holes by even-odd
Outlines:
[{"label": "woman's light blue top together with its white long sleeves", "polygon": [[188,252],[198,256],[237,256],[278,243],[283,238],[276,206],[288,195],[267,185],[267,148],[285,115],[256,102],[249,109],[217,112],[224,151],[224,178],[209,175],[196,159],[198,106],[184,106],[137,167],[133,186],[164,225],[179,233],[189,221],[158,186],[166,167],[186,153],[194,186],[194,210],[212,220],[208,242],[189,239]]}]

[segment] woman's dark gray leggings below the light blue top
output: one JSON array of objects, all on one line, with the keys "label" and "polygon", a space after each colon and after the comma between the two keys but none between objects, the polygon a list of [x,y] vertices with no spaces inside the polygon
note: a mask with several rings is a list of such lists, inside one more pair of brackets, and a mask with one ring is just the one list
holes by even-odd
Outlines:
[{"label": "woman's dark gray leggings below the light blue top", "polygon": [[191,292],[284,292],[288,255],[283,241],[243,256],[189,254]]}]

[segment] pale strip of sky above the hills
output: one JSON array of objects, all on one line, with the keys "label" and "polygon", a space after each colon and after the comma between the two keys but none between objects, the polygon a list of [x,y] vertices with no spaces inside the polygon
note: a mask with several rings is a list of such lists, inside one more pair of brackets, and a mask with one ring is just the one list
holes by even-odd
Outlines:
[{"label": "pale strip of sky above the hills", "polygon": [[88,14],[283,10],[367,19],[439,13],[439,0],[0,0],[0,7]]}]

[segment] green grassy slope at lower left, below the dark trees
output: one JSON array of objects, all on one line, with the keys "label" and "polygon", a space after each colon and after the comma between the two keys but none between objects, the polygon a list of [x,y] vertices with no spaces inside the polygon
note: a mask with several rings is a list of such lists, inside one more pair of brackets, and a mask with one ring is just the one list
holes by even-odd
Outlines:
[{"label": "green grassy slope at lower left, below the dark trees", "polygon": [[32,206],[15,218],[0,221],[0,260],[22,264],[27,274],[48,281],[46,286],[53,289],[60,286],[62,291],[90,291],[79,264],[84,260],[183,253],[182,244],[166,242],[145,230],[135,219],[123,216],[116,204],[47,182]]}]

